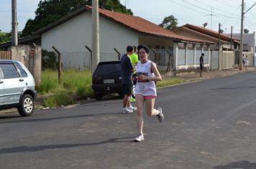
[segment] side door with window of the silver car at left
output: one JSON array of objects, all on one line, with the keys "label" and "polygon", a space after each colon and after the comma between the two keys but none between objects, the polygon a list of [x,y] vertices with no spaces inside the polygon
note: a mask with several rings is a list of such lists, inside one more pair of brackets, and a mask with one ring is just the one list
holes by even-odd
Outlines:
[{"label": "side door with window of the silver car at left", "polygon": [[22,78],[13,62],[0,64],[4,78],[4,104],[19,102],[24,89],[24,78]]}]

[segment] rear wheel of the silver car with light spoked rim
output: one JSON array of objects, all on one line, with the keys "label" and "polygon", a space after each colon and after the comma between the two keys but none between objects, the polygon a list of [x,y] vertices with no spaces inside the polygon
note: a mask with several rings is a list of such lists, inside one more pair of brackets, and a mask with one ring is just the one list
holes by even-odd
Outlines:
[{"label": "rear wheel of the silver car with light spoked rim", "polygon": [[24,95],[18,107],[19,115],[29,116],[34,112],[34,99],[31,95]]}]

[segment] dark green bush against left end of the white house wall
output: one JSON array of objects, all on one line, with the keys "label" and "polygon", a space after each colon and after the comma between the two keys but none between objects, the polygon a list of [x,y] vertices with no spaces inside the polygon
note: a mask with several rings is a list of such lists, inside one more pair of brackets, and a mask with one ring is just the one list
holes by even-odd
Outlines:
[{"label": "dark green bush against left end of the white house wall", "polygon": [[58,69],[57,56],[55,52],[47,52],[47,50],[42,50],[42,69]]}]

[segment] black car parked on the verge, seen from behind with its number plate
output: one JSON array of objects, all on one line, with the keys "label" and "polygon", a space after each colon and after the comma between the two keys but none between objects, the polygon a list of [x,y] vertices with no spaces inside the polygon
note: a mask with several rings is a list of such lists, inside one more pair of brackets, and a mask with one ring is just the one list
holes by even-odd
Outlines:
[{"label": "black car parked on the verge, seen from behind with its number plate", "polygon": [[93,72],[92,88],[96,100],[109,93],[122,93],[122,77],[120,61],[99,62]]}]

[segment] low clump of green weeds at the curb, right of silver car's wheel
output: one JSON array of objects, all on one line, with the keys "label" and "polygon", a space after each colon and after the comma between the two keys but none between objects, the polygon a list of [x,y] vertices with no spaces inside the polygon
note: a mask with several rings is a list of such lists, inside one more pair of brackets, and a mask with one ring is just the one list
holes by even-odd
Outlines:
[{"label": "low clump of green weeds at the curb, right of silver car's wheel", "polygon": [[71,105],[76,103],[76,100],[72,97],[72,93],[60,93],[47,97],[44,100],[43,106],[45,107],[59,107],[61,105]]}]

